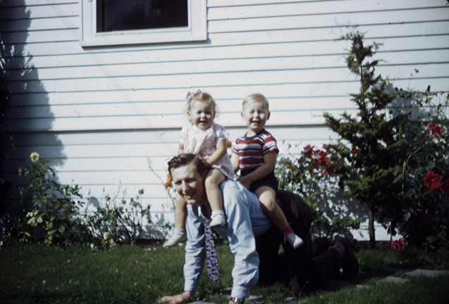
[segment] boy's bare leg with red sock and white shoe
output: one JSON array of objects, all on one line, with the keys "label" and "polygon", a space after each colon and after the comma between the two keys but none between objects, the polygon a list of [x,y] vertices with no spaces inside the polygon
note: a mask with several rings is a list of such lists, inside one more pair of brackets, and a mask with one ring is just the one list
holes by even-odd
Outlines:
[{"label": "boy's bare leg with red sock and white shoe", "polygon": [[276,192],[269,186],[261,186],[254,193],[259,198],[264,213],[270,217],[271,222],[278,227],[288,243],[293,248],[301,246],[304,241],[293,232],[292,227],[288,224],[281,207],[276,203]]}]

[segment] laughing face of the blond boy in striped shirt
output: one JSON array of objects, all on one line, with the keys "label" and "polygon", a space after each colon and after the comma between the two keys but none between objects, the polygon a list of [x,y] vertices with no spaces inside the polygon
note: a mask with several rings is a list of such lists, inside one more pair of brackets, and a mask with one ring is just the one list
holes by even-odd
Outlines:
[{"label": "laughing face of the blond boy in striped shirt", "polygon": [[266,120],[270,118],[270,112],[263,102],[255,101],[246,103],[242,110],[242,120],[248,127],[248,136],[254,136],[264,129]]}]

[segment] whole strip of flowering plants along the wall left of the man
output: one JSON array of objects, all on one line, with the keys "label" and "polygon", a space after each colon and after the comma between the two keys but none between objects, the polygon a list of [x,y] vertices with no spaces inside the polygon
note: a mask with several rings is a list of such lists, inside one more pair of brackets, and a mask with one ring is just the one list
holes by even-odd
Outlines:
[{"label": "whole strip of flowering plants along the wall left of the man", "polygon": [[19,168],[19,175],[25,174],[28,184],[20,189],[13,229],[8,235],[2,234],[2,242],[18,239],[42,241],[46,245],[111,248],[125,241],[134,243],[144,231],[144,220],[151,223],[150,208],[143,208],[141,203],[143,189],[128,201],[125,191],[120,202],[118,195],[106,196],[104,204],[95,207],[92,198],[83,202],[78,185],[56,182],[50,163],[48,158],[33,152],[25,167]]}]

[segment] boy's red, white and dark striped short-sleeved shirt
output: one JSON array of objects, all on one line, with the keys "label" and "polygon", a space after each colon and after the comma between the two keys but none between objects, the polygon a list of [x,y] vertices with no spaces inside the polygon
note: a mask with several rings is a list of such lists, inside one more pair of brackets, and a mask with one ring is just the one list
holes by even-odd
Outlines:
[{"label": "boy's red, white and dark striped short-sleeved shirt", "polygon": [[247,137],[246,133],[238,138],[231,147],[233,153],[239,156],[240,170],[255,169],[264,165],[264,155],[276,151],[279,153],[276,139],[265,129],[254,137]]}]

